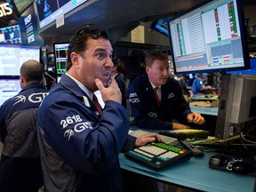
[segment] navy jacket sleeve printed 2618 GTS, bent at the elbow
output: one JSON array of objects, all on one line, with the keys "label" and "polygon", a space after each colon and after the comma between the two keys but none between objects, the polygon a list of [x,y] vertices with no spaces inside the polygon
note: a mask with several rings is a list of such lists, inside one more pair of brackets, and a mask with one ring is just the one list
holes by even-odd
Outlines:
[{"label": "navy jacket sleeve printed 2618 GTS, bent at the elbow", "polygon": [[83,102],[61,93],[44,99],[38,110],[38,127],[44,129],[48,144],[69,166],[99,174],[111,170],[118,161],[130,120],[126,109],[115,101],[105,103],[99,118]]}]

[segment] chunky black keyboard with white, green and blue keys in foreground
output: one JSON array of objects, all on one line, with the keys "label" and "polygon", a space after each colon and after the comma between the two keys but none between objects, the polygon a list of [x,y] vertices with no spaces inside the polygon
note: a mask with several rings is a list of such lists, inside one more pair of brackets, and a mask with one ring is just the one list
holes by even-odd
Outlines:
[{"label": "chunky black keyboard with white, green and blue keys in foreground", "polygon": [[125,152],[124,156],[159,170],[189,160],[193,156],[193,152],[180,145],[172,146],[163,142],[151,142]]}]

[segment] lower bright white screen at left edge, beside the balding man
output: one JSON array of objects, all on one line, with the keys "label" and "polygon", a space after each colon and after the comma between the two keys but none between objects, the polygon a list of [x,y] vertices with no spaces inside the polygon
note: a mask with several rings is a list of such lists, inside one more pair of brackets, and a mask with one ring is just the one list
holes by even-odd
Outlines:
[{"label": "lower bright white screen at left edge, beside the balding man", "polygon": [[19,78],[0,78],[0,106],[20,92]]}]

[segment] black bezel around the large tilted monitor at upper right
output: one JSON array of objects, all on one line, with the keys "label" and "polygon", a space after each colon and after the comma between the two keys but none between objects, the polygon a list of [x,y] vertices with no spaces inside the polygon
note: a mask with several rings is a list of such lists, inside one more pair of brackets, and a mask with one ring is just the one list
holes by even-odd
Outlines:
[{"label": "black bezel around the large tilted monitor at upper right", "polygon": [[[238,14],[238,21],[239,21],[239,27],[240,27],[240,33],[241,33],[241,43],[242,43],[242,50],[243,50],[243,56],[244,56],[244,66],[241,67],[228,67],[228,68],[205,68],[205,69],[198,69],[198,70],[191,70],[188,69],[186,71],[177,71],[176,67],[176,62],[173,54],[173,49],[172,49],[172,33],[171,33],[171,28],[170,28],[170,22],[172,20],[176,20],[185,14],[189,12],[195,11],[197,8],[200,8],[206,4],[210,4],[212,2],[216,2],[216,0],[205,0],[204,2],[201,2],[200,4],[197,4],[196,6],[188,9],[185,12],[180,12],[174,15],[170,20],[168,21],[168,31],[169,31],[169,43],[170,43],[170,48],[172,52],[172,63],[173,63],[173,70],[175,75],[187,75],[187,74],[196,74],[196,73],[212,73],[212,72],[220,72],[222,74],[226,74],[228,71],[236,71],[236,70],[243,70],[243,69],[250,69],[250,57],[249,57],[249,51],[248,51],[248,43],[247,43],[247,37],[246,37],[246,27],[244,24],[244,5],[242,1],[239,0],[233,0],[236,1],[237,5],[237,14]],[[219,0],[218,0],[219,1]]]}]

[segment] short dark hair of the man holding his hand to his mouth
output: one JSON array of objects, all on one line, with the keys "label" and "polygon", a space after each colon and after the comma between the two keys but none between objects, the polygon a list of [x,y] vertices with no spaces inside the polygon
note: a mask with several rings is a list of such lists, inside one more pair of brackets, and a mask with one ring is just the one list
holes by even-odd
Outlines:
[{"label": "short dark hair of the man holding his hand to his mouth", "polygon": [[86,50],[86,42],[88,39],[108,38],[108,33],[105,30],[81,28],[76,31],[75,35],[71,37],[68,45],[68,68],[72,67],[70,55],[72,52],[78,54],[83,53]]}]

